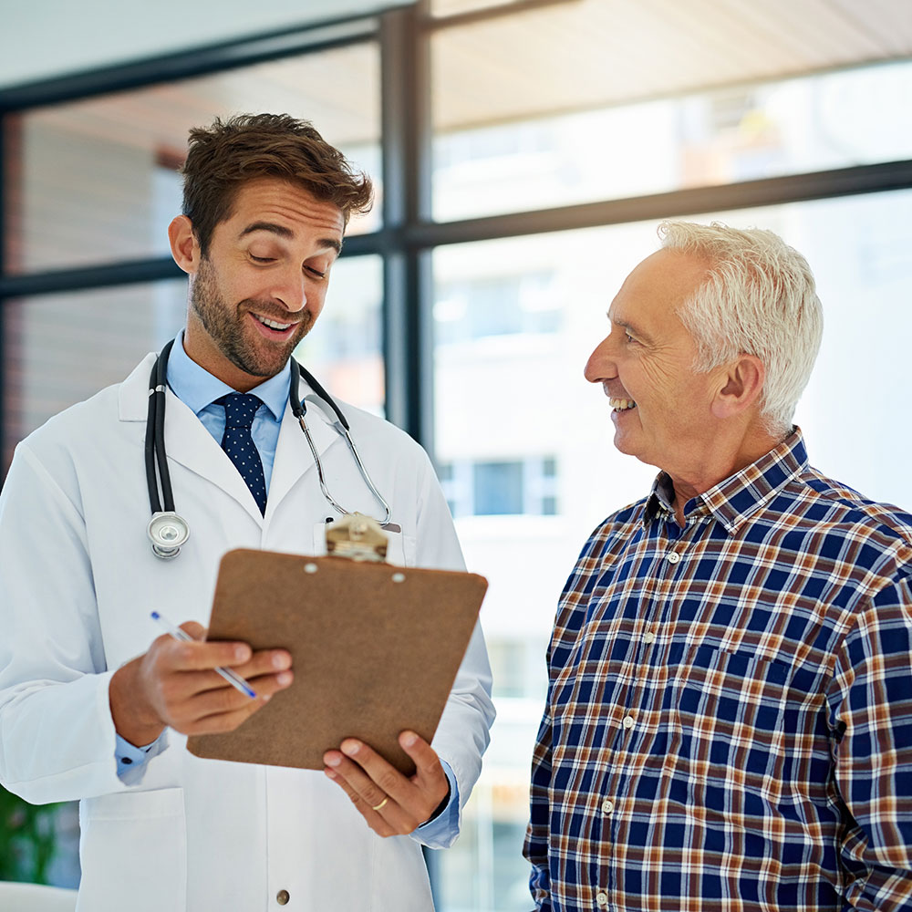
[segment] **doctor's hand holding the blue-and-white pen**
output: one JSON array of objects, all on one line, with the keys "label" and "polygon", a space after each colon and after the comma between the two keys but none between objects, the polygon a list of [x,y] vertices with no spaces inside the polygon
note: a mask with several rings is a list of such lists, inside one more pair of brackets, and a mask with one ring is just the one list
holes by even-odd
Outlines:
[{"label": "doctor's hand holding the blue-and-white pen", "polygon": [[[187,735],[233,731],[292,682],[285,649],[254,652],[246,643],[207,643],[205,628],[192,621],[181,629],[194,642],[164,634],[111,678],[114,727],[131,744],[150,744],[166,725]],[[215,672],[220,666],[247,679],[256,697],[233,688]]]}]

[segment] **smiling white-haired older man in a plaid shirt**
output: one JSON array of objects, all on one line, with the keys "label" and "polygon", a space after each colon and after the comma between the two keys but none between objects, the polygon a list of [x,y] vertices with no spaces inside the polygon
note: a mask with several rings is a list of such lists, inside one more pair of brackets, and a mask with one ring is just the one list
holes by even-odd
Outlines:
[{"label": "smiling white-haired older man in a plaid shirt", "polygon": [[800,254],[666,223],[586,365],[658,466],[561,597],[525,855],[540,909],[912,909],[912,516],[808,463]]}]

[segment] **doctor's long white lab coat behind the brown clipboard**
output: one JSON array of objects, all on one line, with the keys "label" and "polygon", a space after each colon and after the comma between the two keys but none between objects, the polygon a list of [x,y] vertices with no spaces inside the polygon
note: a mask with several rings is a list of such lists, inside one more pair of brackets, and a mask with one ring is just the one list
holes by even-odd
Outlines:
[{"label": "doctor's long white lab coat behind the brown clipboard", "polygon": [[[280,890],[289,910],[426,912],[419,842],[373,834],[322,772],[200,760],[168,731],[140,782],[117,776],[109,679],[160,635],[150,611],[206,624],[226,551],[322,554],[333,513],[290,409],[261,516],[218,443],[168,390],[174,500],[191,537],[175,560],[155,557],[143,470],[153,358],[17,448],[0,497],[0,781],[33,803],[80,800],[81,912],[256,912],[279,908]],[[389,559],[461,569],[424,451],[389,423],[343,409],[402,527]],[[377,515],[345,441],[314,403],[307,414],[330,492]],[[476,629],[434,739],[462,803],[488,741],[489,693]]]}]

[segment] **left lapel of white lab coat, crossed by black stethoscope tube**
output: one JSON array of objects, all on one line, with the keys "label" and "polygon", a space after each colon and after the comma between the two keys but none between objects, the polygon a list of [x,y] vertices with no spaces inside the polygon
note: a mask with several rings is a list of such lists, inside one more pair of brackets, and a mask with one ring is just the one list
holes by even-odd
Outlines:
[{"label": "left lapel of white lab coat, crossed by black stethoscope tube", "polygon": [[[149,375],[154,360],[154,354],[148,355],[121,384],[120,420],[146,420],[149,408]],[[177,462],[185,469],[212,482],[240,503],[257,523],[262,524],[263,516],[254,501],[254,495],[222,447],[202,426],[202,421],[171,392],[171,389],[165,390],[165,397],[165,452],[168,454],[168,461]],[[175,492],[175,502],[177,499]],[[175,503],[175,507],[180,512],[180,503]]]}]

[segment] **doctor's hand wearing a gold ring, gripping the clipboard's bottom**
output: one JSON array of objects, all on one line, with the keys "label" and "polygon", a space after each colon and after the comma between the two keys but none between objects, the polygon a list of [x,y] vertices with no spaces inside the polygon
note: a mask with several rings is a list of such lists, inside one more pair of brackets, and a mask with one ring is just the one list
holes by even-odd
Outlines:
[{"label": "doctor's hand wearing a gold ring, gripping the clipboard's bottom", "polygon": [[364,741],[347,738],[339,751],[326,751],[326,775],[337,782],[368,826],[381,836],[411,833],[426,823],[450,794],[450,782],[436,751],[414,731],[399,735],[402,750],[415,762],[403,776]]}]

